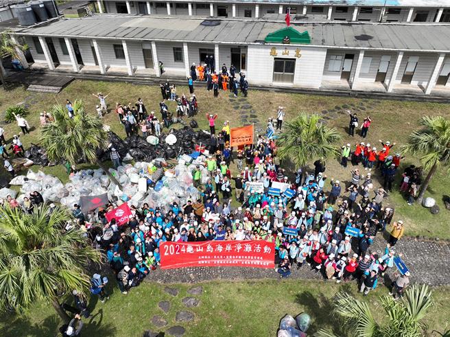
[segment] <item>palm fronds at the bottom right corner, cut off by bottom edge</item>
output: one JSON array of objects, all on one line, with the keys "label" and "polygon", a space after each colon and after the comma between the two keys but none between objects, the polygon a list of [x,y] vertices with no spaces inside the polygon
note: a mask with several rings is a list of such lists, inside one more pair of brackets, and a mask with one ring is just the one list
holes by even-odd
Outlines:
[{"label": "palm fronds at the bottom right corner, cut off by bottom edge", "polygon": [[[380,298],[387,314],[387,321],[377,323],[366,302],[359,301],[346,292],[336,295],[333,314],[342,319],[348,335],[358,337],[420,337],[427,326],[423,318],[434,304],[431,290],[426,285],[413,285],[405,296],[394,300],[388,295]],[[335,337],[331,332],[320,330],[314,336]]]}]

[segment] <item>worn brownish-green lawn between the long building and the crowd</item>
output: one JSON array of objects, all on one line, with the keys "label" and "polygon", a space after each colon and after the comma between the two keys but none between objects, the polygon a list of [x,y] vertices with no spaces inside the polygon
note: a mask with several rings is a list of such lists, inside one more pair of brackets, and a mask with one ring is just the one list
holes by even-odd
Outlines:
[{"label": "worn brownish-green lawn between the long building and the crowd", "polygon": [[[105,116],[104,122],[108,124],[113,131],[121,137],[125,137],[125,132],[118,122],[113,108],[116,102],[134,104],[138,97],[143,99],[147,110],[156,112],[159,116],[158,104],[161,102],[161,91],[158,86],[134,85],[128,83],[115,82],[94,82],[75,80],[67,88],[65,88],[58,95],[45,93],[29,93],[22,87],[13,89],[11,91],[3,91],[0,89],[0,112],[3,113],[8,106],[27,102],[29,104],[30,114],[27,117],[30,126],[34,129],[30,135],[23,136],[22,140],[25,148],[29,143],[39,143],[39,113],[48,111],[54,104],[64,104],[66,99],[72,102],[76,98],[83,100],[86,108],[95,113],[95,104],[97,98],[92,93],[101,91],[104,94],[110,94],[107,102],[112,109],[111,112]],[[186,93],[189,95],[187,86],[179,86],[177,89],[178,95]],[[241,125],[241,109],[235,110],[233,106],[239,105],[236,100],[230,100],[228,93],[220,93],[217,99],[213,98],[213,93],[206,91],[204,88],[196,89],[196,96],[200,106],[200,115],[196,117],[200,128],[208,129],[205,113],[217,113],[217,126],[223,125],[225,120],[229,120],[231,126]],[[329,126],[333,126],[342,133],[342,143],[356,143],[362,141],[359,135],[350,137],[346,134],[346,127],[348,126],[348,116],[342,112],[333,112],[336,108],[342,106],[348,107],[351,111],[358,113],[359,118],[364,118],[365,115],[370,115],[372,118],[372,126],[368,132],[368,137],[364,139],[366,143],[371,143],[372,146],[381,148],[379,139],[383,141],[389,140],[391,143],[396,143],[392,150],[395,152],[402,143],[407,141],[408,135],[418,127],[418,121],[423,115],[444,115],[450,117],[450,104],[438,104],[427,102],[403,102],[394,100],[361,100],[351,97],[327,97],[324,95],[302,95],[291,93],[274,93],[270,91],[250,91],[248,95],[248,102],[252,106],[252,110],[257,115],[261,126],[265,126],[265,121],[270,116],[275,116],[278,106],[284,106],[286,111],[286,119],[294,117],[299,111],[306,111],[307,113],[319,113],[327,110],[331,111],[327,120]],[[176,104],[168,102],[171,111],[175,110]],[[363,107],[362,107],[363,106]],[[364,110],[363,110],[364,109]],[[342,110],[341,110],[342,111]],[[176,127],[180,124],[176,124]],[[3,125],[6,130],[6,138],[10,139],[14,133],[20,131],[16,124]],[[313,159],[311,159],[311,162]],[[415,158],[407,158],[404,164],[418,163]],[[37,170],[39,167],[34,167]],[[294,167],[292,167],[294,169]],[[329,178],[338,178],[340,181],[350,180],[350,170],[348,167],[344,170],[337,160],[329,160],[327,163],[327,170],[325,174]],[[62,181],[67,181],[68,177],[62,167],[44,167],[43,171],[46,173],[55,174],[59,176]],[[364,174],[364,170],[363,170]],[[397,191],[393,191],[389,196],[386,204],[395,207],[396,212],[394,218],[402,218],[406,225],[406,235],[423,235],[425,237],[440,237],[441,239],[450,239],[450,222],[448,221],[449,211],[445,209],[442,202],[442,196],[450,194],[450,183],[447,178],[447,170],[439,170],[434,180],[431,181],[429,191],[426,196],[431,196],[436,199],[440,206],[440,213],[436,216],[432,215],[427,209],[420,205],[408,206],[405,198]],[[377,178],[377,174],[375,174]],[[375,188],[379,187],[375,183]]]}]

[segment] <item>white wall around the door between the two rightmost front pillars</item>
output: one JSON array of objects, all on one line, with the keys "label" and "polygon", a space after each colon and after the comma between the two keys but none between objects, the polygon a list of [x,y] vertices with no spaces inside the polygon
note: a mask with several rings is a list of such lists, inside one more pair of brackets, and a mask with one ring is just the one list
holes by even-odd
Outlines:
[{"label": "white wall around the door between the two rightmost front pillars", "polygon": [[397,74],[396,83],[401,83],[401,78],[405,73],[405,68],[407,61],[410,56],[418,56],[418,62],[416,65],[416,70],[412,76],[411,84],[425,86],[428,83],[431,73],[434,70],[434,66],[438,61],[437,54],[421,54],[421,53],[405,53],[403,59],[401,60],[399,73]]}]

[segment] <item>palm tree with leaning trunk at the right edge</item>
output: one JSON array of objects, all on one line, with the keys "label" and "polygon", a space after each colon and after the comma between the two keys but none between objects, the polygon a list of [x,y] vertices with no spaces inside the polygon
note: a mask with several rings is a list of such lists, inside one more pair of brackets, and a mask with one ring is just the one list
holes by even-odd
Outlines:
[{"label": "palm tree with leaning trunk at the right edge", "polygon": [[420,156],[423,168],[428,171],[417,197],[418,202],[422,202],[438,167],[450,164],[450,120],[442,116],[425,116],[421,119],[421,125],[423,128],[412,132],[408,143],[401,148],[403,154]]}]

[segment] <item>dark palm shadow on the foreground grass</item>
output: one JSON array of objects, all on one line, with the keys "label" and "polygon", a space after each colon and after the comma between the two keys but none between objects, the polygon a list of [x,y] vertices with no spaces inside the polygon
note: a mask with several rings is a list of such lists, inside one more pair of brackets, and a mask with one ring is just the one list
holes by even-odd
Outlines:
[{"label": "dark palm shadow on the foreground grass", "polygon": [[[350,292],[351,285],[343,284],[340,291]],[[322,292],[313,294],[305,291],[296,295],[296,302],[305,307],[305,312],[311,317],[311,327],[308,335],[313,336],[320,329],[328,329],[336,336],[348,336],[346,330],[333,314],[333,299],[328,299]]]}]

